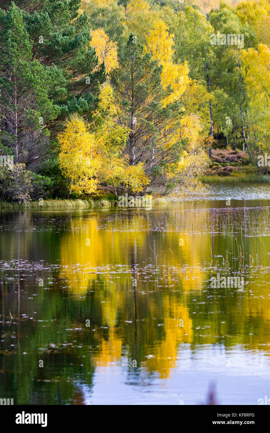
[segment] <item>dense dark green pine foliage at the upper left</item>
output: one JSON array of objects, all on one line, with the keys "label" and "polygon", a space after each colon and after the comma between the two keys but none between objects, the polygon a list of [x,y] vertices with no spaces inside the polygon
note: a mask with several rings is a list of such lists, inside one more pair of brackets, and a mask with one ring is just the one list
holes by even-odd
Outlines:
[{"label": "dense dark green pine foliage at the upper left", "polygon": [[90,118],[97,106],[105,70],[78,4],[42,0],[35,10],[14,3],[0,10],[0,126],[20,162],[26,131],[47,129],[53,137],[70,113]]}]

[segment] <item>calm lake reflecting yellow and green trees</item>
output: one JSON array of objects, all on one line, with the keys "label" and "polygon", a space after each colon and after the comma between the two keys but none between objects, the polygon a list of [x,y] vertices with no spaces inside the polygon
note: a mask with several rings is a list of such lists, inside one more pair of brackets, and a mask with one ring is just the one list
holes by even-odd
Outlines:
[{"label": "calm lake reflecting yellow and green trees", "polygon": [[0,230],[0,397],[270,398],[269,185],[211,184],[150,210],[1,211]]}]

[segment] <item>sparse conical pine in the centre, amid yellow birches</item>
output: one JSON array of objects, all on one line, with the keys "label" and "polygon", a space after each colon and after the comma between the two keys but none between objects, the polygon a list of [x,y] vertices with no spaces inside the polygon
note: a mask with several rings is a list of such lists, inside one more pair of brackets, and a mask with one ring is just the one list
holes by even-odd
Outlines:
[{"label": "sparse conical pine in the centre, amid yellow birches", "polygon": [[127,143],[130,165],[145,162],[146,170],[161,161],[176,161],[182,150],[177,134],[182,104],[176,100],[163,105],[173,89],[164,90],[161,72],[162,66],[152,60],[150,53],[143,54],[143,46],[130,34],[120,55],[119,68],[111,74],[120,124],[130,128]]}]

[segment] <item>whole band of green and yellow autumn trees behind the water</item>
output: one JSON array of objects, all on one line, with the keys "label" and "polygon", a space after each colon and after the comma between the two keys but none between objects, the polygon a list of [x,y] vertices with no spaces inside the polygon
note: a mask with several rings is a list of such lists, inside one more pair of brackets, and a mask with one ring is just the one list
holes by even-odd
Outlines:
[{"label": "whole band of green and yellow autumn trees behind the water", "polygon": [[270,152],[269,0],[0,8],[0,154],[14,161],[0,200],[183,191],[217,149],[250,170]]}]

